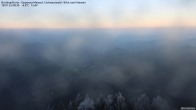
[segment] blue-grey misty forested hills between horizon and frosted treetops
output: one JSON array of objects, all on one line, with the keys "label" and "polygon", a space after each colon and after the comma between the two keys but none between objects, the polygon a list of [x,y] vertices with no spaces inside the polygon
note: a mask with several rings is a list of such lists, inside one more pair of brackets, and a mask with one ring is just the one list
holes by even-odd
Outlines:
[{"label": "blue-grey misty forested hills between horizon and frosted treetops", "polygon": [[148,110],[143,100],[195,107],[194,31],[1,29],[0,110],[69,110],[78,94],[78,110],[98,110],[100,97],[129,110]]}]

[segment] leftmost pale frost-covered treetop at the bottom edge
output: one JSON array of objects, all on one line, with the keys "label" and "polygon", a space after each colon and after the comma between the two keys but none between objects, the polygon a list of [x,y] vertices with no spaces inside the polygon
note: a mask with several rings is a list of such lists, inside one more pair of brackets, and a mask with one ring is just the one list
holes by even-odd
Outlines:
[{"label": "leftmost pale frost-covered treetop at the bottom edge", "polygon": [[78,110],[94,110],[94,101],[86,96],[78,106]]}]

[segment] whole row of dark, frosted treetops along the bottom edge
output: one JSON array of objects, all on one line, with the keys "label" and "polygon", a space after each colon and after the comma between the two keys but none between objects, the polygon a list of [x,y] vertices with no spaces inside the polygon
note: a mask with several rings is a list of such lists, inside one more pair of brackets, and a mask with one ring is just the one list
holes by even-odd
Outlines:
[{"label": "whole row of dark, frosted treetops along the bottom edge", "polygon": [[166,100],[160,96],[149,98],[143,94],[137,98],[125,99],[121,94],[100,96],[91,99],[88,95],[82,98],[79,94],[75,100],[59,105],[50,105],[48,110],[171,110]]}]

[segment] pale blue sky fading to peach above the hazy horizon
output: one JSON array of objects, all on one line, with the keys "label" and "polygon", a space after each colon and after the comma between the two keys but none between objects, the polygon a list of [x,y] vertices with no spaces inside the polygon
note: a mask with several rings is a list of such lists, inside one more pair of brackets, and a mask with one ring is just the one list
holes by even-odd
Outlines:
[{"label": "pale blue sky fading to peach above the hazy horizon", "polygon": [[0,6],[0,28],[196,27],[196,0],[83,1],[86,4]]}]

